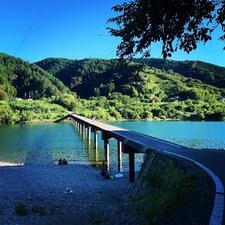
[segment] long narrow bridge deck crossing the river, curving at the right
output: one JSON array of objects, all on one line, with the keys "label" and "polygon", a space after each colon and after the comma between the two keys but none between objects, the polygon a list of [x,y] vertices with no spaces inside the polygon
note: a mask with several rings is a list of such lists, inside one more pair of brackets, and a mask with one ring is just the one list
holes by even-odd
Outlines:
[{"label": "long narrow bridge deck crossing the river, curving at the right", "polygon": [[[177,145],[168,141],[160,140],[155,137],[140,134],[134,131],[126,130],[109,124],[101,123],[96,120],[91,120],[82,116],[71,113],[70,116],[75,120],[85,123],[86,126],[91,126],[95,130],[99,130],[106,134],[108,137],[116,138],[123,142],[123,144],[134,148],[139,153],[145,153],[146,151],[156,151],[162,154],[170,155],[171,157],[183,157],[193,160],[195,164],[201,164],[206,169],[209,169],[216,174],[222,184],[217,185],[216,192],[221,194],[224,199],[224,186],[225,186],[225,151],[224,150],[207,150],[207,149],[193,149],[187,148],[181,145]],[[215,181],[216,179],[214,179]],[[220,182],[219,182],[220,183]],[[219,195],[218,195],[219,196]],[[224,200],[220,209],[223,211]],[[223,216],[225,221],[225,214]],[[219,224],[219,223],[216,223]]]}]

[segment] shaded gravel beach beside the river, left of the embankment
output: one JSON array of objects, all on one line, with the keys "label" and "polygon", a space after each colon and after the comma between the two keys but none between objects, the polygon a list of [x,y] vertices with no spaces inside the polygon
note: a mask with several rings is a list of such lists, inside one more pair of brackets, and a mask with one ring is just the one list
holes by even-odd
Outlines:
[{"label": "shaded gravel beach beside the river, left of the embankment", "polygon": [[[65,194],[67,187],[73,193]],[[131,214],[119,210],[132,188],[127,174],[104,179],[89,165],[1,164],[0,224],[135,224]],[[18,203],[26,205],[27,215],[15,212]],[[34,206],[42,207],[42,214]]]}]

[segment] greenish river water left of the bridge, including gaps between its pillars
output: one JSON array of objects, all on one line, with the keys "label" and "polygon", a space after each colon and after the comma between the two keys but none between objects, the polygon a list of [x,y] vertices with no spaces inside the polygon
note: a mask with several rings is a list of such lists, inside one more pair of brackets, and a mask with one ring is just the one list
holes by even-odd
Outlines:
[{"label": "greenish river water left of the bridge, including gaps between its pillars", "polygon": [[[81,130],[81,129],[80,129]],[[118,171],[117,141],[110,142],[110,169]],[[57,164],[65,158],[70,164],[89,164],[101,168],[105,159],[101,133],[91,139],[72,124],[0,125],[0,162],[12,164]],[[137,167],[142,154],[136,154]],[[128,155],[122,155],[123,171],[128,170]]]}]

